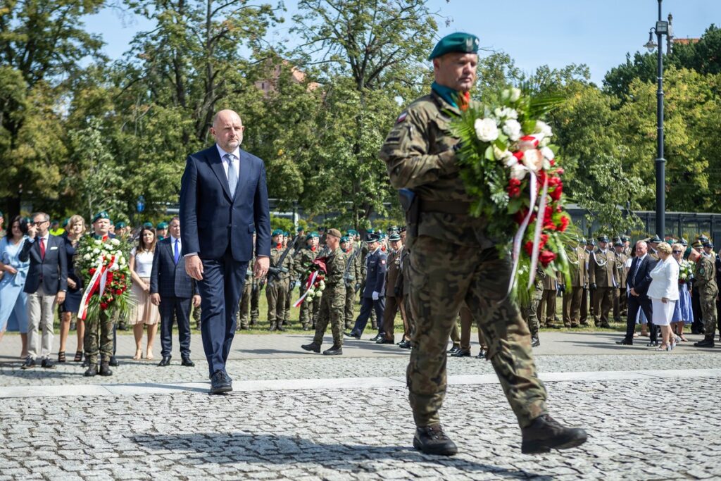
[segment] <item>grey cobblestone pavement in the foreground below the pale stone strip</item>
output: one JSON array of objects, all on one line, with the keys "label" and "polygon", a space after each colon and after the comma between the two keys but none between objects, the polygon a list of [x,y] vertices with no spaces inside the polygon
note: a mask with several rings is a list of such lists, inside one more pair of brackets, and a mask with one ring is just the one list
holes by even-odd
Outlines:
[{"label": "grey cobblestone pavement in the foreground below the pale stone strip", "polygon": [[498,384],[449,387],[453,458],[412,449],[401,387],[4,399],[0,480],[711,479],[719,381],[549,382],[551,412],[590,439],[541,456],[520,453]]}]

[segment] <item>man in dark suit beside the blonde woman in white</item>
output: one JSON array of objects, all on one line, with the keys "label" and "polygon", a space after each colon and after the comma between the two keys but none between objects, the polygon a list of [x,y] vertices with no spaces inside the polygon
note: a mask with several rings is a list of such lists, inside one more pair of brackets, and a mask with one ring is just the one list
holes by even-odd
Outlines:
[{"label": "man in dark suit beside the blonde woman in white", "polygon": [[636,330],[636,318],[639,309],[648,319],[650,343],[658,345],[658,335],[653,325],[651,312],[651,299],[646,295],[648,286],[651,285],[651,271],[655,268],[656,260],[648,253],[648,246],[645,242],[636,243],[636,257],[631,262],[627,285],[629,287],[628,317],[626,318],[626,337],[616,341],[616,344],[632,345],[633,334]]}]

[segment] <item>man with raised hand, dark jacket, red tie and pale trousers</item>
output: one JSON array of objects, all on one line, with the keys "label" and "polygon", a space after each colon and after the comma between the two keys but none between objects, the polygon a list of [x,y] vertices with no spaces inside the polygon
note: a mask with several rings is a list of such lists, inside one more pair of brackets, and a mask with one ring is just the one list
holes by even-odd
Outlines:
[{"label": "man with raised hand, dark jacket, red tie and pale trousers", "polygon": [[[50,349],[53,348],[53,312],[57,304],[65,301],[68,290],[68,257],[65,241],[50,235],[50,216],[44,212],[32,214],[32,224],[27,227],[30,239],[22,246],[19,259],[27,262],[25,288],[27,295],[27,358],[22,369],[35,366],[35,359],[42,359],[45,369],[52,369]],[[38,327],[43,330],[42,344]]]}]

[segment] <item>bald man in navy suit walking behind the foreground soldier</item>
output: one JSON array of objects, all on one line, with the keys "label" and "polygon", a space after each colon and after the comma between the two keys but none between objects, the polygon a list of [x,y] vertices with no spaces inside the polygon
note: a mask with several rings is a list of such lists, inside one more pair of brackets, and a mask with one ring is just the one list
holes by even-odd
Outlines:
[{"label": "bald man in navy suit walking behind the foreground soldier", "polygon": [[240,149],[243,123],[236,112],[213,118],[216,144],[188,156],[180,185],[180,230],[185,270],[198,281],[200,332],[208,359],[211,394],[233,390],[226,361],[235,334],[235,314],[253,256],[253,275],[270,265],[270,209],[265,164]]}]

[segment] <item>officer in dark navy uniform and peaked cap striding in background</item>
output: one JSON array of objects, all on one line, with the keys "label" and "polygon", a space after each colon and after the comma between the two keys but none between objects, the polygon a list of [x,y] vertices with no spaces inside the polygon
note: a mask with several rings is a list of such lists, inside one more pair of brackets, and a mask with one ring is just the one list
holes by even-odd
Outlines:
[{"label": "officer in dark navy uniform and peaked cap striding in background", "polygon": [[[363,330],[366,329],[368,318],[371,314],[375,314],[377,325],[383,326],[383,311],[386,308],[386,268],[388,257],[386,253],[381,251],[381,237],[379,234],[368,234],[366,236],[366,244],[368,244],[368,256],[366,257],[366,288],[363,291],[363,301],[361,302],[361,313],[355,318],[355,325],[350,332],[346,332],[348,337],[360,339]],[[371,340],[379,340],[381,332]]]}]

